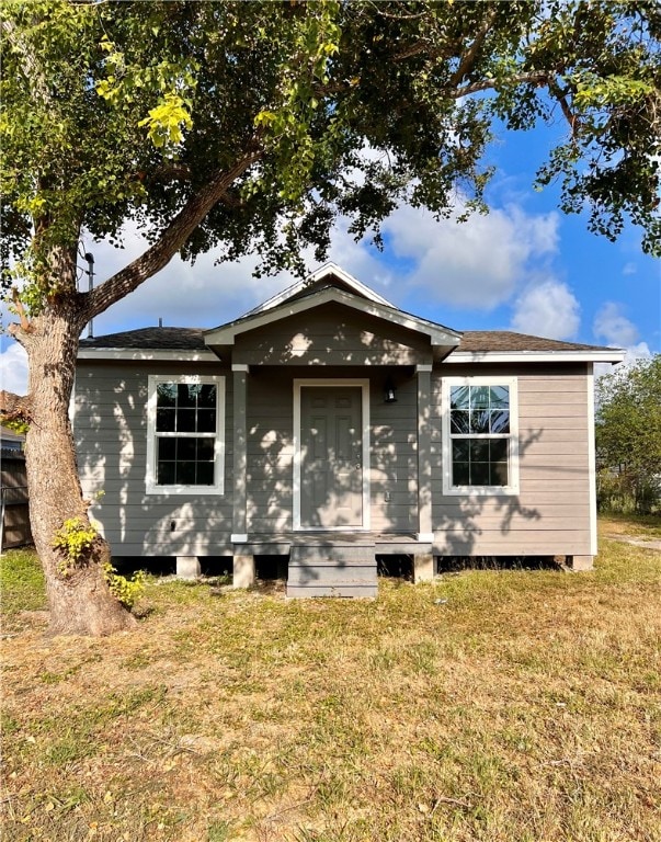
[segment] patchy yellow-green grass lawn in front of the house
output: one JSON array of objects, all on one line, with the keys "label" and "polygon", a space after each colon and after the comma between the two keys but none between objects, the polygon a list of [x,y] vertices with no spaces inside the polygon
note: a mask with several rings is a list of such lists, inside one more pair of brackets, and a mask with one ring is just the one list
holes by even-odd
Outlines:
[{"label": "patchy yellow-green grass lawn in front of the house", "polygon": [[109,639],[45,638],[2,566],[7,840],[661,840],[659,551],[375,602],[151,579]]}]

